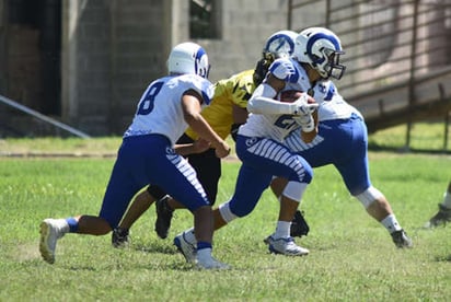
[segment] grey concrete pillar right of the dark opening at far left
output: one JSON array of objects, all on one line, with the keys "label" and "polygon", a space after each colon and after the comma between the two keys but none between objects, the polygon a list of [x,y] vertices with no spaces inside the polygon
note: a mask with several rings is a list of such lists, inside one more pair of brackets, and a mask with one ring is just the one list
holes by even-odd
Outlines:
[{"label": "grey concrete pillar right of the dark opening at far left", "polygon": [[111,98],[111,3],[63,3],[62,118],[82,131],[108,130]]}]

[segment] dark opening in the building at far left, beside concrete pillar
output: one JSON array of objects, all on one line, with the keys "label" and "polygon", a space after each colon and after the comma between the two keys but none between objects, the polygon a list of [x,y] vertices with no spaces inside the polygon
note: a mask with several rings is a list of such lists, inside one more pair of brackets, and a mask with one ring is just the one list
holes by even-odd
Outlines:
[{"label": "dark opening in the building at far left, beside concrete pillar", "polygon": [[10,0],[9,94],[46,115],[61,114],[61,1]]}]

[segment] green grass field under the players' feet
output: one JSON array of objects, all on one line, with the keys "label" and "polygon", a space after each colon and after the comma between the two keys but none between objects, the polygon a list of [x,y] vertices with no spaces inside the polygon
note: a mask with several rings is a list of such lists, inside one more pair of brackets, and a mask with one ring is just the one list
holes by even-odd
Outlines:
[{"label": "green grass field under the players' feet", "polygon": [[[0,150],[92,148],[84,143],[4,140]],[[120,139],[90,143],[96,144],[93,152],[114,153]],[[450,301],[451,225],[423,229],[450,179],[449,155],[370,152],[372,183],[413,237],[408,251],[394,246],[326,166],[315,170],[302,202],[311,232],[297,242],[311,251],[307,257],[268,253],[263,239],[275,229],[278,207],[266,191],[250,217],[215,235],[213,254],[233,267],[228,271],[187,265],[172,239],[192,225],[192,216],[177,211],[163,241],[153,232],[153,207],[135,224],[128,248],[113,248],[111,235],[68,234],[58,243],[55,265],[43,262],[39,222],[97,213],[113,163],[114,158],[0,158],[0,301]],[[233,193],[238,169],[236,162],[223,163],[218,202]]]}]

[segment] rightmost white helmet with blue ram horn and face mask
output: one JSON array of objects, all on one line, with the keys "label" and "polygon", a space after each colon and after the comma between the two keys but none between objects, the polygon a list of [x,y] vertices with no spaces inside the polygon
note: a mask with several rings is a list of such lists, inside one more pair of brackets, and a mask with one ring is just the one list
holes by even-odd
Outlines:
[{"label": "rightmost white helmet with blue ram horn and face mask", "polygon": [[296,38],[293,57],[309,63],[322,78],[339,80],[346,67],[339,63],[339,56],[345,54],[339,38],[324,27],[309,27]]}]

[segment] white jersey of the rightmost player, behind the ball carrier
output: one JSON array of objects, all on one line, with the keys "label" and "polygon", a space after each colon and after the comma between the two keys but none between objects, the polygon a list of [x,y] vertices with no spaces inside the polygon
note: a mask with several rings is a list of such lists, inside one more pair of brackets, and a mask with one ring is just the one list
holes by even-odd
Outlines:
[{"label": "white jersey of the rightmost player, behind the ball carrier", "polygon": [[317,107],[320,121],[348,119],[352,113],[363,119],[361,114],[343,98],[332,81],[324,80],[316,82],[312,92],[312,96],[320,104]]}]

